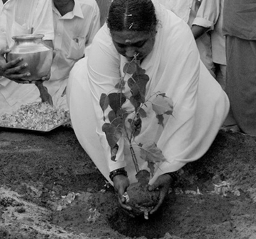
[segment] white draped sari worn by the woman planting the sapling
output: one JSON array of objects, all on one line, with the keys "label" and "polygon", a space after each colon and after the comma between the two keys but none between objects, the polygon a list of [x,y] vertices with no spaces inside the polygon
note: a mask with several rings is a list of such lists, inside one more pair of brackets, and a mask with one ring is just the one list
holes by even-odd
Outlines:
[{"label": "white draped sari worn by the woman planting the sapling", "polygon": [[[141,64],[150,77],[145,98],[157,91],[166,93],[174,102],[174,111],[173,116],[165,117],[163,128],[157,124],[151,107],[143,107],[148,117],[142,119],[143,128],[135,141],[157,144],[166,158],[157,163],[150,184],[159,175],[179,170],[203,156],[229,108],[226,93],[199,59],[189,26],[162,6],[155,4],[155,7],[160,20],[155,45]],[[135,167],[126,140],[119,139],[116,161],[111,161],[110,146],[101,130],[104,124],[99,106],[101,93],[114,92],[124,64],[126,59],[116,51],[104,25],[94,38],[88,62],[82,59],[74,65],[67,96],[74,132],[97,168],[109,180],[111,170],[125,167],[130,182],[135,182]],[[139,153],[137,156],[140,169],[148,169]]]}]

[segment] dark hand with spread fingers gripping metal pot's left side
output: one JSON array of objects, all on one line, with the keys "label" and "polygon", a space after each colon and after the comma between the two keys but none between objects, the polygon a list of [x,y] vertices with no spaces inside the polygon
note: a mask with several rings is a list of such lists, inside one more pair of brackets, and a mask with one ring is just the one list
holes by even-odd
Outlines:
[{"label": "dark hand with spread fingers gripping metal pot's left side", "polygon": [[23,59],[18,57],[17,59],[12,60],[11,62],[6,62],[4,54],[7,54],[11,49],[0,49],[0,76],[9,78],[11,81],[16,83],[30,83],[29,81],[23,81],[21,78],[30,76],[30,72],[21,73],[21,70],[26,69],[28,66],[27,63],[18,65],[22,62]]}]

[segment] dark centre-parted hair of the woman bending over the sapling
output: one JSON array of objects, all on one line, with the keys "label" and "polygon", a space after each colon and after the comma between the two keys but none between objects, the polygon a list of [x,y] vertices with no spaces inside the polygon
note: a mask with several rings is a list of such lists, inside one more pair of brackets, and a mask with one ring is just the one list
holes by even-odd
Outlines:
[{"label": "dark centre-parted hair of the woman bending over the sapling", "polygon": [[113,0],[108,11],[107,24],[111,32],[153,32],[157,26],[155,6],[151,0]]}]

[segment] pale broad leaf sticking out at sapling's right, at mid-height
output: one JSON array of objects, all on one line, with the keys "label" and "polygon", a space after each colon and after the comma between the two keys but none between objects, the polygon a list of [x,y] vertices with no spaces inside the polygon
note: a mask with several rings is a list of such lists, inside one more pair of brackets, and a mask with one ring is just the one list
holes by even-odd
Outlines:
[{"label": "pale broad leaf sticking out at sapling's right, at mid-height", "polygon": [[172,115],[173,112],[173,102],[171,98],[167,98],[166,96],[157,95],[152,100],[152,109],[155,111],[157,115]]}]

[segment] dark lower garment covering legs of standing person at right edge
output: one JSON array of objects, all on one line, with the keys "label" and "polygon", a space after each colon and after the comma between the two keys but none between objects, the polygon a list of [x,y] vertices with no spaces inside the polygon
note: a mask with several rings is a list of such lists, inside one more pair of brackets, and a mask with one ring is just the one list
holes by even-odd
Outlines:
[{"label": "dark lower garment covering legs of standing person at right edge", "polygon": [[256,42],[228,36],[226,48],[231,114],[243,132],[256,135]]}]

